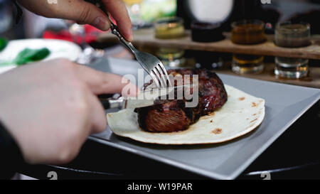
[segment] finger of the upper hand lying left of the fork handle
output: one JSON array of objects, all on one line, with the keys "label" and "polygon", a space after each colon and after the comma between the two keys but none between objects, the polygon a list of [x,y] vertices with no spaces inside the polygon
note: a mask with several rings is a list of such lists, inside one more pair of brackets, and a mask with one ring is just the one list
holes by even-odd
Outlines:
[{"label": "finger of the upper hand lying left of the fork handle", "polygon": [[70,19],[77,23],[87,23],[102,31],[110,28],[107,15],[97,6],[86,1],[59,1],[55,17]]}]

